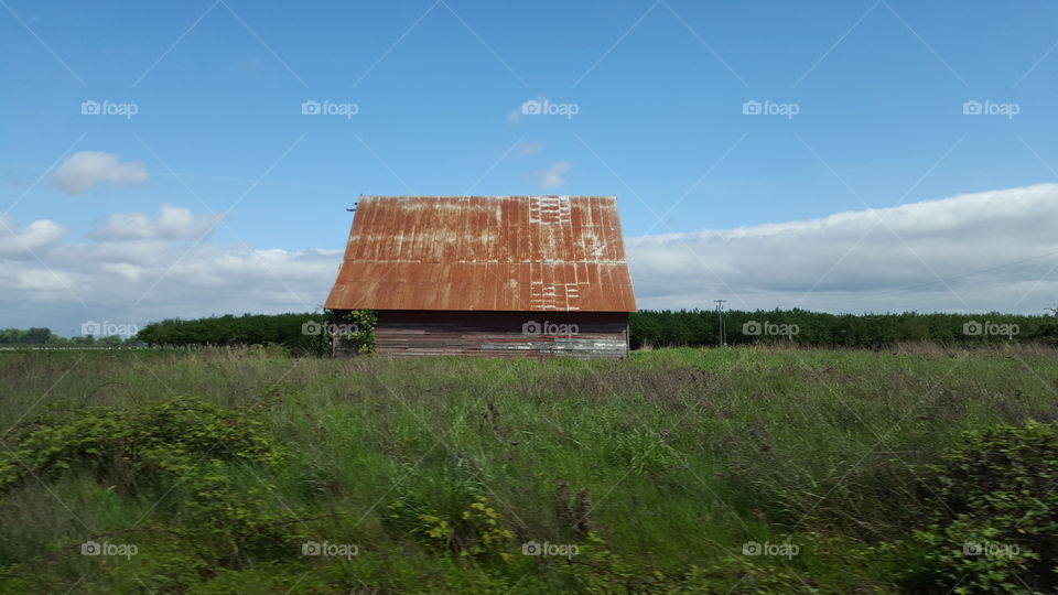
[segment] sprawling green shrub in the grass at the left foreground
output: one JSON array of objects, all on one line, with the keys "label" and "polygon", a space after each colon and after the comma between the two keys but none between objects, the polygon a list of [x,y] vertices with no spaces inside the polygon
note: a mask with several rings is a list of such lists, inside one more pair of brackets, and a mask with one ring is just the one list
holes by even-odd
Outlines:
[{"label": "sprawling green shrub in the grass at the left foreground", "polygon": [[0,453],[0,498],[30,477],[86,473],[128,498],[172,494],[168,512],[180,524],[132,529],[155,553],[141,563],[168,567],[166,576],[287,556],[301,536],[291,518],[266,506],[273,486],[234,480],[240,467],[274,467],[287,457],[260,419],[263,409],[176,399],[132,411],[52,410],[23,423]]}]

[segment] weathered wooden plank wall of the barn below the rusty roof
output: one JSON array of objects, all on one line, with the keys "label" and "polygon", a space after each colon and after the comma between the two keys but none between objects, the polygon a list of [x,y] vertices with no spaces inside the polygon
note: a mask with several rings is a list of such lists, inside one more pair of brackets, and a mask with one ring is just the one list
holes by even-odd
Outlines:
[{"label": "weathered wooden plank wall of the barn below the rusty roof", "polygon": [[[628,313],[379,311],[375,346],[398,357],[623,358]],[[335,356],[349,355],[336,342]]]}]

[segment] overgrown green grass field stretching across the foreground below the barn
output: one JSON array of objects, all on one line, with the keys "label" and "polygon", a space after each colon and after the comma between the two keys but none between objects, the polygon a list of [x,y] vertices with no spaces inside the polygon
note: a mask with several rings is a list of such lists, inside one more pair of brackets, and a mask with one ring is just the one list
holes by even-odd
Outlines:
[{"label": "overgrown green grass field stretching across the foreground below the barn", "polygon": [[1055,356],[2,353],[0,593],[906,591],[922,469]]}]

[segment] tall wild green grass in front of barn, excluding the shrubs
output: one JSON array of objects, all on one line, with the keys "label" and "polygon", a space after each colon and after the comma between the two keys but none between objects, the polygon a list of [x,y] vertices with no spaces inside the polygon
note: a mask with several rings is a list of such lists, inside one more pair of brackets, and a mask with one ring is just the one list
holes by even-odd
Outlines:
[{"label": "tall wild green grass in front of barn, excluding the shrubs", "polygon": [[[849,552],[906,534],[943,506],[917,487],[917,469],[964,430],[1058,416],[1058,359],[1040,348],[681,348],[626,361],[4,353],[0,380],[4,451],[50,410],[132,410],[175,397],[263,403],[291,464],[225,473],[309,537],[361,551],[323,570],[291,549],[289,560],[201,569],[172,587],[202,593],[589,592],[563,565],[533,565],[518,548],[508,566],[461,561],[387,524],[393,502],[458,519],[475,495],[516,543],[586,543],[591,533],[641,576],[683,576],[741,556],[747,541],[821,536],[774,561],[799,577],[792,584],[889,591],[882,562]],[[0,586],[158,588],[161,561],[177,554],[104,560],[75,545],[104,534],[149,543],[151,531],[181,526],[184,496],[180,482],[130,495],[77,469],[25,482],[0,495]],[[581,528],[569,518],[579,497]],[[822,545],[830,539],[855,547]],[[292,572],[303,575],[296,584]],[[738,583],[745,576],[733,567],[727,586],[751,588]]]}]

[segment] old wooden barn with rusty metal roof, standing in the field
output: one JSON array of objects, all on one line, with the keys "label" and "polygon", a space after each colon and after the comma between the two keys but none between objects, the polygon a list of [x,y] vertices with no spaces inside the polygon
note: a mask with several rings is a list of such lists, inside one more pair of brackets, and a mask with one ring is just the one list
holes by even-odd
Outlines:
[{"label": "old wooden barn with rusty metal roof, standing in the field", "polygon": [[636,310],[613,196],[361,196],[325,305],[382,354],[536,358],[627,357]]}]

